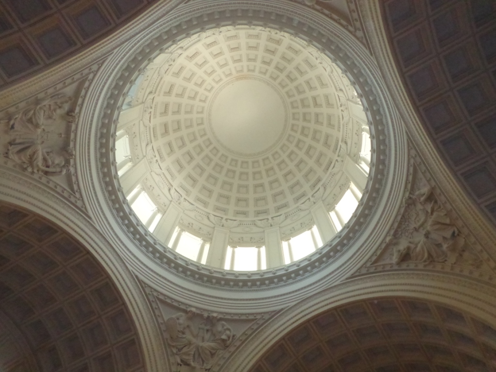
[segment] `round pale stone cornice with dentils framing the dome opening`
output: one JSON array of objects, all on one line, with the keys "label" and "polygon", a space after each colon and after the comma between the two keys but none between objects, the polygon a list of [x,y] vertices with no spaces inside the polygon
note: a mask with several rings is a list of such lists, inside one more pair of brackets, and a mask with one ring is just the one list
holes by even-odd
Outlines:
[{"label": "round pale stone cornice with dentils framing the dome opening", "polygon": [[[404,167],[401,164],[405,162],[406,154],[399,151],[399,149],[405,148],[403,145],[405,139],[402,137],[398,117],[389,103],[390,101],[388,101],[387,92],[381,85],[377,67],[374,66],[371,56],[360,44],[356,43],[347,31],[338,25],[329,24],[323,17],[313,13],[310,9],[302,9],[300,5],[288,4],[286,1],[223,1],[222,3],[195,1],[194,6],[187,4],[181,10],[181,13],[174,15],[174,23],[171,23],[170,18],[166,17],[162,22],[150,27],[147,34],[139,35],[132,42],[116,50],[115,55],[108,60],[99,77],[95,79],[92,104],[88,101],[84,115],[87,118],[87,123],[101,123],[101,126],[98,134],[92,131],[95,130],[94,126],[86,127],[87,132],[81,136],[80,140],[81,146],[87,146],[89,143],[92,144],[91,146],[95,146],[93,150],[90,150],[91,147],[86,147],[88,152],[84,158],[99,158],[101,163],[99,167],[89,163],[81,164],[82,170],[84,170],[82,174],[91,175],[91,178],[85,181],[87,187],[91,189],[95,185],[102,185],[101,189],[106,190],[104,193],[110,194],[112,201],[105,201],[106,198],[94,200],[92,202],[94,213],[99,216],[106,216],[105,219],[117,217],[115,221],[120,221],[121,226],[120,231],[114,234],[126,236],[126,239],[134,241],[135,246],[140,247],[141,252],[147,256],[145,261],[155,261],[157,268],[161,268],[158,272],[150,272],[149,268],[144,269],[147,266],[145,265],[142,269],[138,269],[142,275],[156,275],[165,279],[165,272],[172,272],[186,282],[196,282],[199,285],[198,290],[207,285],[211,288],[226,288],[228,291],[241,289],[253,293],[253,289],[255,289],[255,291],[264,292],[271,287],[290,289],[289,284],[295,282],[301,282],[300,285],[303,285],[304,282],[310,285],[310,282],[327,278],[324,280],[326,282],[333,280],[330,278],[335,277],[337,272],[340,273],[339,276],[345,275],[349,268],[354,265],[352,262],[357,259],[362,260],[364,256],[369,254],[370,248],[364,248],[364,244],[371,247],[376,241],[381,240],[380,236],[383,234],[383,230],[378,226],[388,226],[392,220],[391,211],[397,208],[398,200],[402,194],[399,190],[403,188],[402,180],[405,177],[404,171],[402,171]],[[229,18],[224,20],[223,17],[227,17],[228,13]],[[199,17],[200,14],[201,17]],[[295,14],[298,14],[298,21],[297,18],[293,17]],[[155,242],[144,227],[138,226],[138,221],[135,216],[132,216],[130,207],[120,201],[123,199],[123,195],[119,194],[117,186],[115,186],[114,174],[109,164],[112,158],[108,152],[110,136],[115,131],[112,115],[120,105],[125,85],[142,65],[140,61],[144,62],[152,58],[156,53],[160,53],[162,46],[167,46],[170,42],[177,43],[193,30],[202,27],[205,29],[217,27],[219,22],[222,24],[247,22],[247,24],[260,25],[267,23],[283,31],[286,29],[289,33],[298,34],[304,40],[309,40],[310,44],[327,54],[334,63],[342,67],[348,78],[355,84],[357,91],[362,92],[362,102],[367,107],[367,115],[371,121],[371,130],[375,136],[373,151],[375,151],[376,163],[380,163],[380,166],[376,166],[371,171],[372,182],[369,182],[364,193],[365,196],[360,203],[361,207],[344,230],[327,246],[319,249],[308,258],[294,262],[287,267],[249,274],[225,272],[197,265],[176,256]],[[100,181],[92,181],[92,178],[95,181],[97,179]],[[94,189],[88,192],[89,194],[101,195],[101,191]],[[387,208],[386,204],[389,204]],[[105,208],[102,208],[103,205]],[[113,213],[115,213],[115,217],[111,217]],[[373,218],[370,217],[372,215]],[[101,221],[107,226],[113,225],[104,222],[104,220]],[[372,227],[374,224],[376,224],[375,227]],[[132,229],[130,229],[131,226]],[[364,234],[371,235],[366,238]],[[121,243],[120,245],[123,249],[127,249],[124,244]],[[362,246],[360,250],[358,250],[359,246]],[[352,258],[353,252],[358,251],[360,253]],[[131,253],[131,256],[135,256],[134,259],[137,258],[138,261],[143,259],[135,252]],[[346,262],[346,264],[341,265],[337,272],[329,272],[326,267],[330,267],[331,263],[338,260],[342,260],[341,262]],[[334,267],[334,265],[332,266]],[[310,279],[312,276],[314,279]],[[254,280],[253,277],[259,279]],[[166,282],[167,280],[164,280],[164,285]],[[307,284],[304,286],[306,287]]]}]

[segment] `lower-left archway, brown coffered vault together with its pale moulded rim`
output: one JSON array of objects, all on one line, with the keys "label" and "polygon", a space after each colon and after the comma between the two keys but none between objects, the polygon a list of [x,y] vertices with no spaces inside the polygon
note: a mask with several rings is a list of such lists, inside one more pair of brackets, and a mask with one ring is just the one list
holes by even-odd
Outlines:
[{"label": "lower-left archway, brown coffered vault together with its pale moulded rim", "polygon": [[[71,208],[61,212],[45,199],[33,207],[36,212],[26,209],[35,194],[26,199],[17,193],[17,200],[4,194],[8,202],[0,202],[2,324],[10,327],[24,352],[15,357],[12,349],[6,350],[10,355],[5,363],[29,371],[157,370],[155,361],[162,356],[150,358],[149,353],[162,345],[148,339],[150,315],[128,270],[117,256],[107,258],[111,249],[102,251],[91,229],[79,234],[83,221],[70,235],[67,220],[55,224],[47,218],[58,220],[54,215],[60,219],[67,210],[70,215]],[[75,215],[69,220],[81,217]]]}]

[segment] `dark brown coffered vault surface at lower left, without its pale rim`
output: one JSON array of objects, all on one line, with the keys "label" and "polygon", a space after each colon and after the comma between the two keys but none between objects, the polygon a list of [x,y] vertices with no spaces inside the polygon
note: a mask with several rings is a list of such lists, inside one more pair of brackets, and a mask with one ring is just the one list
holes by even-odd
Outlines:
[{"label": "dark brown coffered vault surface at lower left, without its pale rim", "polygon": [[[88,250],[41,217],[0,204],[5,321],[41,372],[143,371],[131,314]],[[32,371],[10,350],[0,345],[1,371]]]}]

